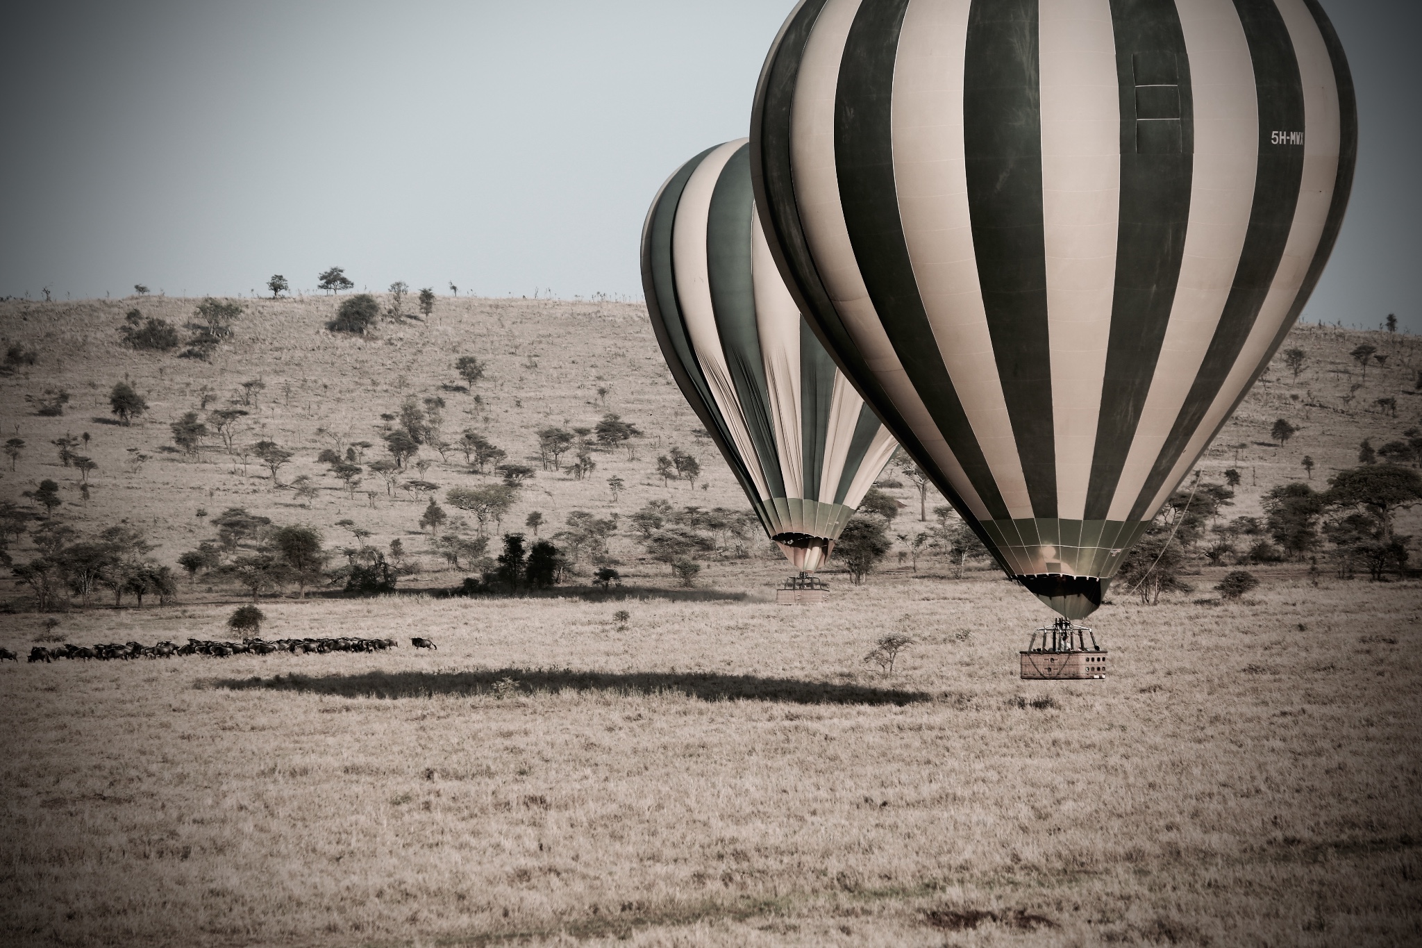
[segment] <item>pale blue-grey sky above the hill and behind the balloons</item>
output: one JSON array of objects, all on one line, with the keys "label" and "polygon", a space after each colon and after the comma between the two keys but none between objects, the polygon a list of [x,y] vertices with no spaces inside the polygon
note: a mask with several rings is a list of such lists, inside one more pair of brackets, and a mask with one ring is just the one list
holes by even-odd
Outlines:
[{"label": "pale blue-grey sky above the hill and behind the balloons", "polygon": [[[1048,0],[1042,0],[1044,3]],[[791,0],[109,0],[0,10],[0,296],[641,296],[663,179],[747,134]],[[1422,3],[1324,0],[1358,181],[1310,321],[1422,333]]]}]

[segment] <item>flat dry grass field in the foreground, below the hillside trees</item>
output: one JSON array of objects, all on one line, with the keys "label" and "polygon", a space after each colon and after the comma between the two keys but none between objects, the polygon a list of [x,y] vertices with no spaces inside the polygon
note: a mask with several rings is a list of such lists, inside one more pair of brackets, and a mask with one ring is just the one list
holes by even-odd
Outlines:
[{"label": "flat dry grass field in the foreground, below the hillside trees", "polygon": [[[439,650],[11,665],[0,938],[1415,945],[1418,593],[1109,605],[1111,677],[1074,684],[1015,679],[1020,590],[907,578],[633,601],[626,628],[611,603],[284,603],[272,635]],[[896,674],[866,667],[899,625]]]}]

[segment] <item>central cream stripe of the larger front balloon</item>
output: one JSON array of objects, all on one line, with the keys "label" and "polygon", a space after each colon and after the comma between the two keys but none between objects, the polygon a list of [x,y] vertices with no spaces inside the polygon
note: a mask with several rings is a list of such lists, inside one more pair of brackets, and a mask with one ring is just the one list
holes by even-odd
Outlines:
[{"label": "central cream stripe of the larger front balloon", "polygon": [[1038,9],[1047,333],[1058,516],[1086,516],[1121,220],[1121,90],[1109,0]]}]

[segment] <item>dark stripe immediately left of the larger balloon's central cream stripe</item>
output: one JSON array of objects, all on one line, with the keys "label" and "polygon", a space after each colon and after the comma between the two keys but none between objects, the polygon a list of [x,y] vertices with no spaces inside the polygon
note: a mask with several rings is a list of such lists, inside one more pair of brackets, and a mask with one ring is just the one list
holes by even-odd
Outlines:
[{"label": "dark stripe immediately left of the larger balloon's central cream stripe", "polygon": [[[973,0],[963,67],[963,141],[973,250],[997,374],[1032,513],[1055,517],[1037,0]],[[958,443],[956,432],[948,443]]]}]

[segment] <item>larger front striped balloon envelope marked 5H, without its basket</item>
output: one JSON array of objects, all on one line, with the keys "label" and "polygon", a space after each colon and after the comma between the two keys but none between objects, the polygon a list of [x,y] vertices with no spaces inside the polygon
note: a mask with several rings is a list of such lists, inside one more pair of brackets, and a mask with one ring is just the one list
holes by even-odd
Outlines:
[{"label": "larger front striped balloon envelope marked 5H, without its basket", "polygon": [[1068,618],[1294,324],[1355,151],[1317,0],[803,0],[751,122],[806,317]]}]

